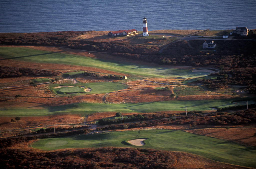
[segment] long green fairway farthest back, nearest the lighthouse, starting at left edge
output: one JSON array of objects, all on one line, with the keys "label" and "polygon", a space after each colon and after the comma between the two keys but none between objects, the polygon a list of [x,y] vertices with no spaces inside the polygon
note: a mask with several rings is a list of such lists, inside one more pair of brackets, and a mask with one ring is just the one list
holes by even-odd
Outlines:
[{"label": "long green fairway farthest back, nearest the lighthouse, starting at left edge", "polygon": [[196,78],[209,75],[207,72],[192,72],[185,69],[172,69],[167,67],[153,67],[127,62],[89,58],[59,52],[47,52],[29,48],[1,47],[0,57],[23,60],[27,62],[56,63],[97,67],[119,73],[139,75],[142,77],[185,77]]}]

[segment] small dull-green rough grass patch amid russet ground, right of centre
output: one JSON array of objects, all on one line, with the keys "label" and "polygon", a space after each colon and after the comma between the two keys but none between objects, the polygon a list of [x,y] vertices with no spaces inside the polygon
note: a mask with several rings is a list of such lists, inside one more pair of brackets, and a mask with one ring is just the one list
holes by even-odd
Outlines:
[{"label": "small dull-green rough grass patch amid russet ground, right of centre", "polygon": [[204,95],[205,90],[199,86],[176,86],[173,89],[176,96]]}]

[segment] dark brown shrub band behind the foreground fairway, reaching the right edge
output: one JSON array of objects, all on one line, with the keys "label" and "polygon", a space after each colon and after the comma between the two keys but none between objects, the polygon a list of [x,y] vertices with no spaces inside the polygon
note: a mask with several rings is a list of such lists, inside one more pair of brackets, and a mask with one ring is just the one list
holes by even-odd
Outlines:
[{"label": "dark brown shrub band behind the foreground fairway, reaching the right edge", "polygon": [[[124,125],[122,124],[119,124],[119,125],[115,124],[107,127],[98,127],[97,130],[102,131],[102,130],[115,130],[115,129],[126,129],[126,128],[131,129],[131,128],[138,128],[138,127],[164,125],[164,124],[175,124],[175,125],[187,124],[190,127],[193,127],[196,125],[231,125],[231,124],[241,125],[241,124],[256,122],[256,108],[241,110],[232,114],[214,113],[214,114],[208,114],[206,116],[203,116],[203,115],[200,115],[201,113],[202,112],[193,112],[193,111],[188,112],[188,114],[191,116],[184,116],[185,113],[182,113],[183,116],[180,116],[180,114],[161,114],[161,115],[149,114],[147,118],[144,117],[143,121],[126,124],[127,127],[124,127]],[[143,116],[144,115],[146,114],[143,114]],[[146,121],[146,119],[151,119],[151,120]]]}]

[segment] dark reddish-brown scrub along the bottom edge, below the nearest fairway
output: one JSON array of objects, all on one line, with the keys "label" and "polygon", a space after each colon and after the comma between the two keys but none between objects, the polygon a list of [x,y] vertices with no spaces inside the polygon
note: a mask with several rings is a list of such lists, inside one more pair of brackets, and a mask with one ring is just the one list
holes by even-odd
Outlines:
[{"label": "dark reddish-brown scrub along the bottom edge, below the nearest fairway", "polygon": [[0,155],[1,168],[248,168],[184,152],[139,148],[106,147],[50,152],[3,148]]}]

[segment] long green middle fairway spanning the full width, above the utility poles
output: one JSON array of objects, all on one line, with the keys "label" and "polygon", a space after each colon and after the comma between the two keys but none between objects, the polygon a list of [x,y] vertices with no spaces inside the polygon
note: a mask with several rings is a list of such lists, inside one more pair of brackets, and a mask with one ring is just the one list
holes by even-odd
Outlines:
[{"label": "long green middle fairway spanning the full width, above the utility poles", "polygon": [[[248,99],[248,104],[256,103]],[[246,101],[236,102],[236,99],[226,100],[170,100],[163,102],[133,103],[133,104],[97,104],[77,103],[64,106],[45,106],[44,109],[1,109],[0,116],[49,116],[55,114],[81,114],[86,116],[97,112],[158,112],[158,111],[187,111],[212,110],[210,107],[229,107],[246,105]]]}]

